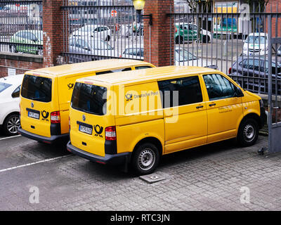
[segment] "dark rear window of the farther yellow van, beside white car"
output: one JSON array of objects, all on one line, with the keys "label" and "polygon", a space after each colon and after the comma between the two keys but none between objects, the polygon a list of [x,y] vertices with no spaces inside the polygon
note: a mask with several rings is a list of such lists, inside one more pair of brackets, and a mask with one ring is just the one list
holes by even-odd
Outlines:
[{"label": "dark rear window of the farther yellow van, beside white car", "polygon": [[52,79],[25,75],[22,81],[21,95],[34,101],[48,103],[52,98]]}]

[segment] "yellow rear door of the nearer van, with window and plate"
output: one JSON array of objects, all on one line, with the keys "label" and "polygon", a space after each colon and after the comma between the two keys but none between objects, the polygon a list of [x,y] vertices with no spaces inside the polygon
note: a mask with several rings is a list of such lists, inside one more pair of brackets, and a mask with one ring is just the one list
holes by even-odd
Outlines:
[{"label": "yellow rear door of the nearer van, with window and plate", "polygon": [[105,130],[115,129],[115,117],[107,108],[107,90],[107,87],[98,84],[77,82],[70,109],[72,145],[103,157],[109,153],[106,152],[107,147],[115,145],[114,140],[105,140]]}]

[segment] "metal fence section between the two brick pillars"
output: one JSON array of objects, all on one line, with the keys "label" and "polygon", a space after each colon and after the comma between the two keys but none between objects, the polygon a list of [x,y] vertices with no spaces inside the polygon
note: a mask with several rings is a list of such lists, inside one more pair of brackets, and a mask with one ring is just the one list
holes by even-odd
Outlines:
[{"label": "metal fence section between the two brick pillars", "polygon": [[143,24],[131,1],[64,1],[66,63],[105,58],[143,60]]}]

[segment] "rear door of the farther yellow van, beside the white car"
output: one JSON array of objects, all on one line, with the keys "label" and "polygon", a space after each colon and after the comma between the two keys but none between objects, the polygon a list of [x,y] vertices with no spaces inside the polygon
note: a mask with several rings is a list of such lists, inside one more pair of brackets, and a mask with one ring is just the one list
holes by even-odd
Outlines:
[{"label": "rear door of the farther yellow van, beside the white car", "polygon": [[20,124],[32,134],[51,137],[51,113],[58,110],[55,78],[25,75],[22,81]]}]

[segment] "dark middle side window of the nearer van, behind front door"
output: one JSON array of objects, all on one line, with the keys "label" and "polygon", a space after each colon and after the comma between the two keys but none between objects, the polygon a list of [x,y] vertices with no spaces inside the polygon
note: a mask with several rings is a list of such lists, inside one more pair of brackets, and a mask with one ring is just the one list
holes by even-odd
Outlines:
[{"label": "dark middle side window of the nearer van, behind front door", "polygon": [[[198,76],[167,79],[159,81],[158,86],[163,96],[162,105],[164,105],[164,108],[201,103],[203,101]],[[177,94],[178,101],[175,99]]]}]

